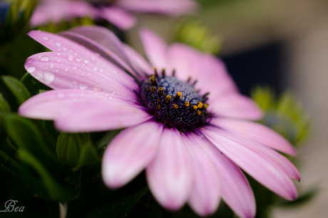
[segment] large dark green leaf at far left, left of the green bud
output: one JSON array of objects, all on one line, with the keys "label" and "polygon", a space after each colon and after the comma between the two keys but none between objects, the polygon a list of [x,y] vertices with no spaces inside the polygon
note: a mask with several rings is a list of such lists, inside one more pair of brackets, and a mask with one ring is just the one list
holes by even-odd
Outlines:
[{"label": "large dark green leaf at far left, left of the green bud", "polygon": [[56,154],[51,150],[50,144],[44,140],[39,129],[31,120],[10,114],[5,117],[6,132],[20,152],[26,151],[33,154],[47,167],[57,167]]}]

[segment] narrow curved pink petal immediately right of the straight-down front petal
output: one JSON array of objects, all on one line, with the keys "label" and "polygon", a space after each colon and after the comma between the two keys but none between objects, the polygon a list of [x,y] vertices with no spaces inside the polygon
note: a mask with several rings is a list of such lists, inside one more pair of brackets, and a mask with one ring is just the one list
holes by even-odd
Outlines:
[{"label": "narrow curved pink petal immediately right of the straight-down front petal", "polygon": [[189,205],[201,217],[213,214],[220,204],[221,188],[217,170],[197,143],[183,136],[193,159],[194,178]]}]

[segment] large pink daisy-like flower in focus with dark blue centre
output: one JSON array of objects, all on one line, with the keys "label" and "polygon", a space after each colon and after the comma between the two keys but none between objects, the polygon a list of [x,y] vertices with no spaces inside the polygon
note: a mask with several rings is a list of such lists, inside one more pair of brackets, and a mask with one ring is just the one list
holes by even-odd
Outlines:
[{"label": "large pink daisy-like flower in focus with dark blue centre", "polygon": [[122,187],[145,169],[150,191],[166,209],[188,202],[205,216],[222,197],[239,217],[254,217],[244,170],[281,197],[297,197],[292,179],[299,172],[275,151],[294,156],[294,147],[248,121],[262,112],[238,93],[219,59],[168,46],[148,29],[140,36],[150,64],[103,27],[29,36],[52,52],[30,56],[26,70],[55,90],[33,96],[19,114],[53,119],[65,132],[126,128],[103,155],[108,187]]}]

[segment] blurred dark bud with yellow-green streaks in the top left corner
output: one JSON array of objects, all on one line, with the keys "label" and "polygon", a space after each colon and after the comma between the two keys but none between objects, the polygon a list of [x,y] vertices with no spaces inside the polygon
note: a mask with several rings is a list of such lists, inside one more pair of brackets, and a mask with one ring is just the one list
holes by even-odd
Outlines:
[{"label": "blurred dark bud with yellow-green streaks in the top left corner", "polygon": [[5,0],[0,2],[0,41],[11,39],[29,24],[36,0]]}]

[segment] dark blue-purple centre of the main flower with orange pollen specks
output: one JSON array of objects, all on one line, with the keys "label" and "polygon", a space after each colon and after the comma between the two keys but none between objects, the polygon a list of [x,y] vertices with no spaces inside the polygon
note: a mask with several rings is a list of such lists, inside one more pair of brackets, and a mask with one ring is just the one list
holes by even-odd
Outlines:
[{"label": "dark blue-purple centre of the main flower with orange pollen specks", "polygon": [[208,123],[211,114],[207,112],[207,94],[200,95],[193,84],[181,81],[173,76],[165,76],[165,69],[140,84],[140,103],[148,108],[157,122],[165,127],[175,127],[180,131],[190,131]]}]

